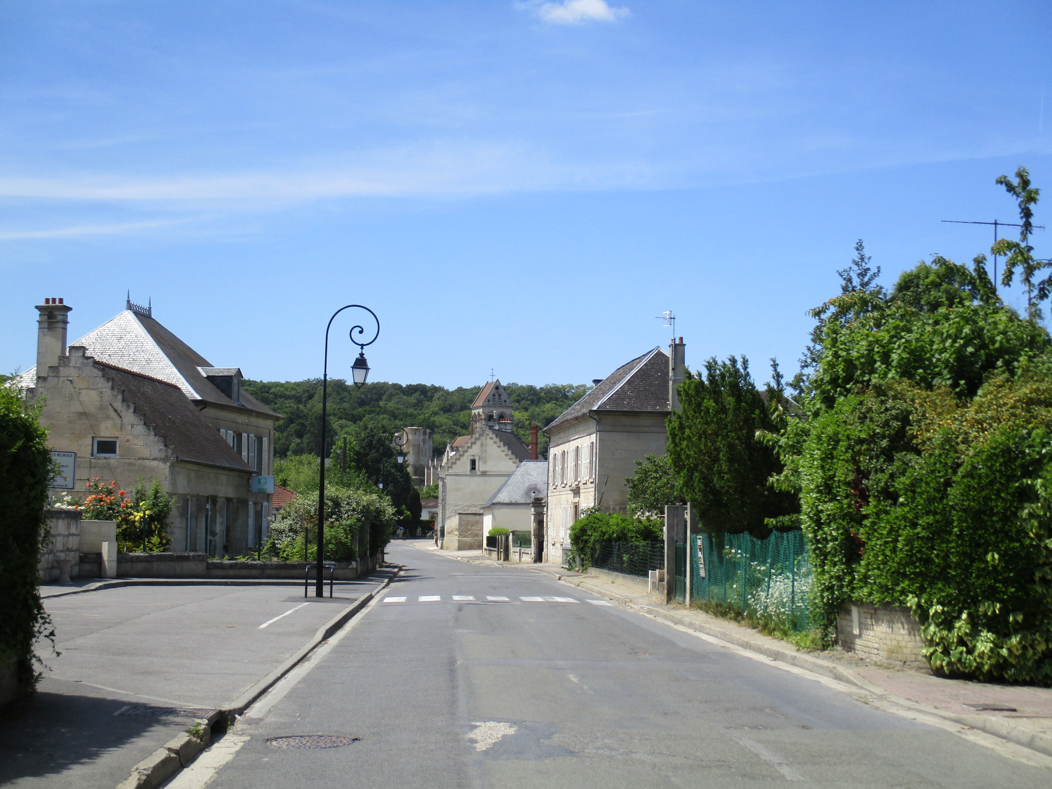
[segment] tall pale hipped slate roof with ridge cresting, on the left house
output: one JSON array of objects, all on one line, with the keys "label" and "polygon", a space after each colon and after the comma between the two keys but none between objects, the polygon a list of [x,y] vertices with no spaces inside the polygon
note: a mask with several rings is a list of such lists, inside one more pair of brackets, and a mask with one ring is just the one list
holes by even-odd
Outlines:
[{"label": "tall pale hipped slate roof with ridge cresting, on the left house", "polygon": [[[222,405],[236,405],[213,384],[200,368],[237,370],[236,367],[213,368],[211,363],[148,316],[125,309],[97,329],[87,332],[70,345],[83,345],[86,355],[100,362],[125,370],[167,381],[182,389],[190,400],[204,400]],[[211,373],[211,375],[234,375]],[[34,386],[36,368],[22,376],[23,386]],[[252,411],[272,417],[272,411],[242,389],[241,405]]]}]

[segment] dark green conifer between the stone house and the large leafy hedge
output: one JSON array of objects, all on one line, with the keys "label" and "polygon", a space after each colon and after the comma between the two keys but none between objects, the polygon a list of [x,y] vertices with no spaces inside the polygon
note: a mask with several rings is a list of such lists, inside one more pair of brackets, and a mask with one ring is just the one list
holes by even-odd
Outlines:
[{"label": "dark green conifer between the stone house and the large leafy hedge", "polygon": [[744,357],[741,363],[709,359],[704,378],[688,372],[680,385],[681,410],[668,419],[668,459],[706,530],[762,538],[769,533],[768,519],[795,511],[793,493],[768,485],[783,465],[757,437],[777,431],[785,412],[776,367],[774,372],[774,385],[761,394]]}]

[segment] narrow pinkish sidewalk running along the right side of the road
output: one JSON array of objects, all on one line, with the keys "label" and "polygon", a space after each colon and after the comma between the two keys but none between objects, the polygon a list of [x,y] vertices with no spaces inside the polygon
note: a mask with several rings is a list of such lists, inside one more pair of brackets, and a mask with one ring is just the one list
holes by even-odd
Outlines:
[{"label": "narrow pinkish sidewalk running along the right side of the road", "polygon": [[800,651],[729,620],[679,604],[666,605],[638,589],[559,565],[518,565],[482,559],[481,551],[434,551],[452,559],[546,572],[572,586],[605,596],[655,619],[744,647],[772,660],[852,685],[875,699],[953,721],[1052,755],[1052,689],[949,680],[930,671],[906,669],[858,658],[841,649]]}]

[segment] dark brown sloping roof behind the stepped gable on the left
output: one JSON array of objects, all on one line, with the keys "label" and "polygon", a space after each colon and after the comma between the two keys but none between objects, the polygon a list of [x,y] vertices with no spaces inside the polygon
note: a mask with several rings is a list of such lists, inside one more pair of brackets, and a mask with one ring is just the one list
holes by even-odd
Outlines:
[{"label": "dark brown sloping roof behind the stepped gable on the left", "polygon": [[176,458],[250,472],[229,444],[175,384],[96,360],[102,375],[123,392],[135,412],[164,439]]}]

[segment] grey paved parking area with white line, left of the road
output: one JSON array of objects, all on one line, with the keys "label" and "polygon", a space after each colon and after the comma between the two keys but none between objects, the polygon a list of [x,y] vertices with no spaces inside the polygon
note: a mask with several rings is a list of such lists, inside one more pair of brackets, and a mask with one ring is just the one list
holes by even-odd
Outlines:
[{"label": "grey paved parking area with white line, left of the road", "polygon": [[195,719],[240,712],[393,574],[321,600],[302,583],[240,580],[44,590],[61,654],[41,651],[28,711],[0,723],[0,784],[114,789]]}]

